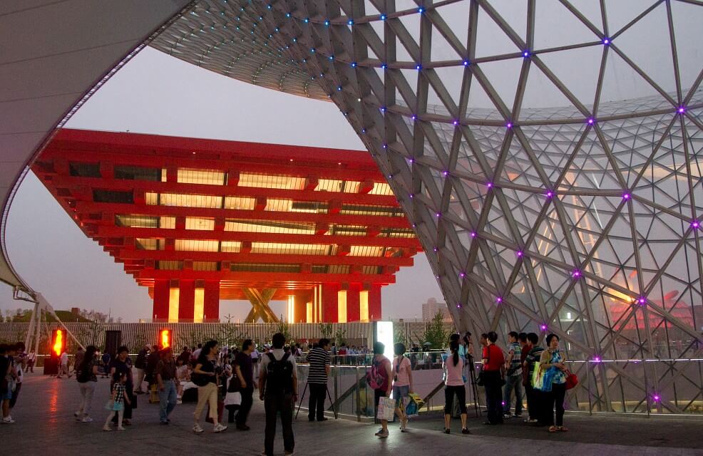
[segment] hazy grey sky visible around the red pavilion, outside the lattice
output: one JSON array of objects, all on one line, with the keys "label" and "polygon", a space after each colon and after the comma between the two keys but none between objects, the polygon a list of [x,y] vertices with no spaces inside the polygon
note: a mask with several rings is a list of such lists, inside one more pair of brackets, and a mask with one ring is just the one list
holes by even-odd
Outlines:
[{"label": "hazy grey sky visible around the red pavilion, outside the lattice", "polygon": [[[68,128],[193,138],[274,142],[364,150],[332,103],[251,86],[145,48],[116,73],[66,125]],[[15,197],[7,244],[19,274],[55,309],[111,311],[128,321],[151,317],[147,289],[137,286],[88,239],[31,173]],[[0,309],[23,307],[9,289]],[[383,289],[384,316],[421,318],[421,303],[441,291],[424,254]],[[284,302],[272,303],[284,314]],[[220,314],[244,318],[250,306],[222,301]]]}]

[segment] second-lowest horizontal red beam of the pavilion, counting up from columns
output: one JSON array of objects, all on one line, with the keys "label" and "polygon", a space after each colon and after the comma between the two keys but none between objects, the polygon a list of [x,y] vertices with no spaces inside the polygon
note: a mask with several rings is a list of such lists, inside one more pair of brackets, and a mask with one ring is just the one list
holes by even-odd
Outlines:
[{"label": "second-lowest horizontal red beam of the pavilion, counting up from columns", "polygon": [[183,252],[175,250],[120,249],[118,260],[230,261],[265,264],[341,264],[349,266],[412,266],[412,257],[332,257],[329,255],[235,254],[226,252]]}]

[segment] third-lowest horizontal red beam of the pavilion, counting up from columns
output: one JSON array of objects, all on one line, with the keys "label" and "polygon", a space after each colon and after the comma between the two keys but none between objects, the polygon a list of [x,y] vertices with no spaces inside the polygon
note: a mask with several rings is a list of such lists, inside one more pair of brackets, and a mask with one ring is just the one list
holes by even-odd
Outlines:
[{"label": "third-lowest horizontal red beam of the pavilion, counting up from columns", "polygon": [[207,241],[251,241],[292,244],[344,244],[376,247],[417,247],[415,238],[328,236],[325,234],[277,234],[235,231],[202,231],[199,229],[98,227],[94,237],[145,237],[157,239],[194,239]]}]

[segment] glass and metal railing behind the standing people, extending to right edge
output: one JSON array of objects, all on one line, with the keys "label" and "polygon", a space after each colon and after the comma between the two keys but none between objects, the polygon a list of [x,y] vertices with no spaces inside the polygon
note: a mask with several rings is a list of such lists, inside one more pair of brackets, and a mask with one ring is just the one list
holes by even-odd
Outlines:
[{"label": "glass and metal railing behind the standing people, extending to right edge", "polygon": [[[418,353],[413,368],[414,392],[424,398],[421,413],[441,410],[444,406],[443,371],[440,353]],[[428,356],[429,355],[429,356]],[[438,361],[432,361],[437,356]],[[347,358],[353,356],[347,356]],[[327,390],[334,410],[342,418],[373,420],[374,390],[366,384],[369,363],[361,356],[350,358],[351,365],[333,364]],[[355,366],[353,363],[359,363]],[[568,361],[570,371],[579,376],[579,384],[568,391],[565,408],[581,413],[622,413],[627,415],[699,415],[703,418],[703,359],[622,359],[598,361]],[[298,365],[299,391],[307,383],[307,368]],[[480,363],[476,363],[474,374]],[[471,384],[471,372],[465,371],[466,402],[469,413],[485,407],[483,388]],[[625,380],[629,378],[630,380]],[[301,398],[301,413],[307,399]],[[526,399],[523,394],[523,405]],[[329,413],[333,407],[325,404]]]}]

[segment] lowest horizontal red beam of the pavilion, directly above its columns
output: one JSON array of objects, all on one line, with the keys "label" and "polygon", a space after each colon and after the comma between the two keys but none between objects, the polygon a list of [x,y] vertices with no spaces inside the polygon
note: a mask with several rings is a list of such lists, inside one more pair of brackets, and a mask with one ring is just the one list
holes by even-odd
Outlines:
[{"label": "lowest horizontal red beam of the pavilion, directly above its columns", "polygon": [[[394,284],[393,274],[312,274],[305,272],[242,272],[242,271],[166,271],[142,269],[137,274],[138,281],[145,279],[219,280],[232,284]],[[275,287],[274,287],[275,288]]]}]

